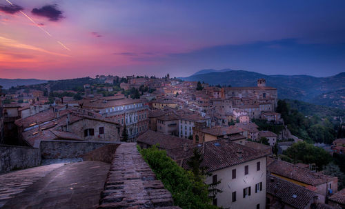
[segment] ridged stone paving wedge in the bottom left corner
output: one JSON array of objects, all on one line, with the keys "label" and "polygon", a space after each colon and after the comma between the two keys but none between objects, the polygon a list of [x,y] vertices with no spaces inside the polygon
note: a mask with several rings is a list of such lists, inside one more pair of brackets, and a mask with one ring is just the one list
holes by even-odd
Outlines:
[{"label": "ridged stone paving wedge in the bottom left corner", "polygon": [[14,198],[14,196],[23,192],[23,190],[31,186],[33,183],[48,175],[52,170],[63,165],[63,163],[57,163],[54,165],[28,168],[0,175],[0,208],[7,201]]}]

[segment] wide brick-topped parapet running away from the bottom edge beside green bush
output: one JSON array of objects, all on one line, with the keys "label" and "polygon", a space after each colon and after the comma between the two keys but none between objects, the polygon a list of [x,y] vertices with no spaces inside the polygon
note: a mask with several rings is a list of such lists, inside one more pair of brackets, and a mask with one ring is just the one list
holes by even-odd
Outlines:
[{"label": "wide brick-topped parapet running away from the bottom edge beside green bush", "polygon": [[122,143],[111,163],[99,208],[179,207],[173,206],[171,193],[156,179],[136,143]]}]

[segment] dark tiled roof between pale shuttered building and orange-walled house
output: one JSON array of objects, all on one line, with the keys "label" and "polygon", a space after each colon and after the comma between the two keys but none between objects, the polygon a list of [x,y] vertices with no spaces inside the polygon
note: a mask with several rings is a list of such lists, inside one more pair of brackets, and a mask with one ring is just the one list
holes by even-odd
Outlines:
[{"label": "dark tiled roof between pale shuttered building and orange-walled house", "polygon": [[272,175],[267,175],[266,192],[299,209],[306,208],[308,203],[313,202],[314,197],[318,196],[316,192]]}]

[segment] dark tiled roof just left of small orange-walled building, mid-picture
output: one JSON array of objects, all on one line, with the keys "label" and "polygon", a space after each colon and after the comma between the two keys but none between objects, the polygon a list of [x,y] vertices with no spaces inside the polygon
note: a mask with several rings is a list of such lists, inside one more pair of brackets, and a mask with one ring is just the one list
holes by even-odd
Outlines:
[{"label": "dark tiled roof just left of small orange-walled building, mid-picture", "polygon": [[193,141],[189,139],[174,137],[172,135],[164,135],[161,132],[155,132],[152,130],[148,130],[144,134],[140,135],[137,142],[145,143],[150,146],[159,143],[159,148],[164,150],[183,147],[185,143],[188,143],[189,145],[193,144]]}]

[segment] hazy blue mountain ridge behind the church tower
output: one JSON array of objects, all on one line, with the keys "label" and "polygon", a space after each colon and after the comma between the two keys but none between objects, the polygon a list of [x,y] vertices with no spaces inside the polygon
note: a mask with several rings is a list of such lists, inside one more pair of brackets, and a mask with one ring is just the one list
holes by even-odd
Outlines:
[{"label": "hazy blue mountain ridge behind the church tower", "polygon": [[277,88],[279,99],[297,99],[320,105],[345,109],[345,72],[332,77],[308,75],[266,75],[245,70],[209,72],[180,78],[184,81],[205,81],[221,86],[257,86],[257,79]]}]

